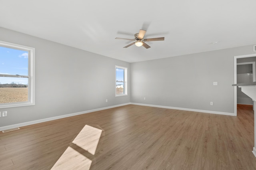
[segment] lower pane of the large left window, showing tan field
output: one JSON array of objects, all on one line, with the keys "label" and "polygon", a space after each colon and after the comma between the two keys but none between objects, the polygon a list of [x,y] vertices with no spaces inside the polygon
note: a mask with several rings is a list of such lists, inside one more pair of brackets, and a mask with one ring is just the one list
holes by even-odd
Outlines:
[{"label": "lower pane of the large left window, showing tan field", "polygon": [[28,101],[28,78],[0,77],[0,103]]}]

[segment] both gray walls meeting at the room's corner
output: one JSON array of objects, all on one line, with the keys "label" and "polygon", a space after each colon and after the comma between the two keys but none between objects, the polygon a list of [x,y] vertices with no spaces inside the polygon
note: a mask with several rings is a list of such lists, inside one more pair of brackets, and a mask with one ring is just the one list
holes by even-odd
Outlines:
[{"label": "both gray walls meeting at the room's corner", "polygon": [[[248,45],[127,63],[4,28],[0,32],[2,41],[36,48],[36,105],[0,109],[8,111],[0,127],[129,102],[234,113],[234,56],[255,53]],[[128,67],[128,96],[115,97],[115,65]]]}]

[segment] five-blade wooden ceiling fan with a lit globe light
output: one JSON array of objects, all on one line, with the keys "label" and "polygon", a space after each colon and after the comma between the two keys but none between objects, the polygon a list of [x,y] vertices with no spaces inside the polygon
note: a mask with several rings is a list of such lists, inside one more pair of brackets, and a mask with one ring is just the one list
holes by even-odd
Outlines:
[{"label": "five-blade wooden ceiling fan with a lit globe light", "polygon": [[138,47],[143,46],[146,49],[150,48],[150,46],[148,44],[146,44],[145,42],[163,41],[164,40],[164,37],[143,39],[145,34],[146,34],[146,30],[140,30],[139,33],[134,34],[134,37],[135,37],[134,39],[128,39],[128,38],[115,38],[115,39],[129,40],[129,41],[135,40],[136,41],[136,42],[130,43],[129,45],[126,45],[124,48],[130,47],[131,45],[135,44]]}]

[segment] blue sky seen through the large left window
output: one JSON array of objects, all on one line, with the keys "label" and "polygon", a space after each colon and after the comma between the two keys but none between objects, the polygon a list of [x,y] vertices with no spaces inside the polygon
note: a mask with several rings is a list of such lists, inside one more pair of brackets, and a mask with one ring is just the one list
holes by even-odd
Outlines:
[{"label": "blue sky seen through the large left window", "polygon": [[[28,51],[0,46],[0,74],[28,75]],[[0,77],[0,83],[28,84],[28,78]]]}]

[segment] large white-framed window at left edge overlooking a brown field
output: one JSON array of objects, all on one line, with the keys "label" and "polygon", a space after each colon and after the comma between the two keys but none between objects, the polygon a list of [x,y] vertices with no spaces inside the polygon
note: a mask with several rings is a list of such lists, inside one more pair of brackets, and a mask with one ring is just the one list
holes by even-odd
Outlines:
[{"label": "large white-framed window at left edge overlooking a brown field", "polygon": [[0,41],[0,108],[34,105],[35,49]]}]

